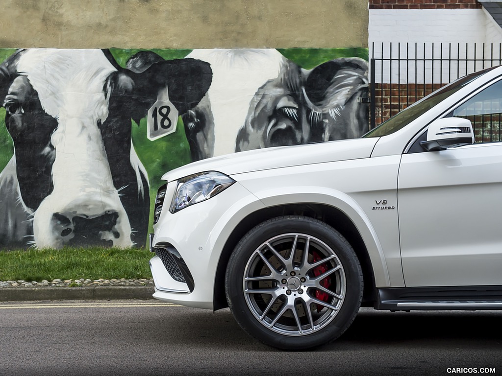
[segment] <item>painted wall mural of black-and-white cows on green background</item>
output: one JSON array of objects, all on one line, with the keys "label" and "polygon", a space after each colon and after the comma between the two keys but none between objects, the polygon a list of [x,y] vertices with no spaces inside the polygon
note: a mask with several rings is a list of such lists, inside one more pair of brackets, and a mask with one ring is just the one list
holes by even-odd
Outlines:
[{"label": "painted wall mural of black-and-white cows on green background", "polygon": [[368,130],[366,49],[0,50],[0,249],[144,246],[164,172]]}]

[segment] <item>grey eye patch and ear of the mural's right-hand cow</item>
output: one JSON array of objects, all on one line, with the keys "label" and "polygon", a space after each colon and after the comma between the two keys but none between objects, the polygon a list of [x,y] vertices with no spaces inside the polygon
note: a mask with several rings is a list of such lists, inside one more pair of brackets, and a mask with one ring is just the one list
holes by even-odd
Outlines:
[{"label": "grey eye patch and ear of the mural's right-hand cow", "polygon": [[359,137],[368,130],[367,62],[335,59],[311,70],[293,62],[250,103],[236,151]]}]

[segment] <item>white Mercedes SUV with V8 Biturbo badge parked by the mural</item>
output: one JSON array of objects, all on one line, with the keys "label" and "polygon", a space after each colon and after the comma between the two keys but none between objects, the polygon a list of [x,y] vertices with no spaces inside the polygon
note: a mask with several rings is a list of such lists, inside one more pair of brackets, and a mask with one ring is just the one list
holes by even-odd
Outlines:
[{"label": "white Mercedes SUV with V8 Biturbo badge parked by the mural", "polygon": [[498,67],[359,139],[169,171],[151,236],[154,297],[229,306],[283,349],[337,338],[361,304],[502,309],[501,123]]}]

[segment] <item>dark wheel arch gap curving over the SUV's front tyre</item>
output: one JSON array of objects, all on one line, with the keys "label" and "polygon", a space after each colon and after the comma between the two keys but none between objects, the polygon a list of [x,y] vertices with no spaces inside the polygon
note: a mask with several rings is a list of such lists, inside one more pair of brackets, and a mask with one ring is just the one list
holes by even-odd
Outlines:
[{"label": "dark wheel arch gap curving over the SUV's front tyre", "polygon": [[341,210],[323,204],[287,204],[268,207],[248,214],[233,229],[223,246],[214,280],[214,310],[228,306],[225,297],[225,271],[230,255],[239,240],[253,227],[271,218],[287,215],[301,215],[320,220],[339,231],[350,243],[361,264],[364,291],[363,306],[372,306],[376,297],[375,278],[364,241],[350,218]]}]

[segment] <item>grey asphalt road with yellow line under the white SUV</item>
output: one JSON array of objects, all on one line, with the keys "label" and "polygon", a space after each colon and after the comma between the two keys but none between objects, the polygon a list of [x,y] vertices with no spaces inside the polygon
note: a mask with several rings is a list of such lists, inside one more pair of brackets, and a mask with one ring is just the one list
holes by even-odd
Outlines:
[{"label": "grey asphalt road with yellow line under the white SUV", "polygon": [[334,343],[285,352],[247,336],[228,310],[153,300],[6,302],[0,375],[502,374],[501,323],[502,311],[362,309]]}]

